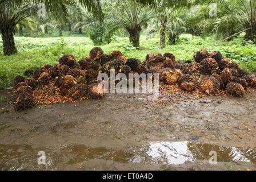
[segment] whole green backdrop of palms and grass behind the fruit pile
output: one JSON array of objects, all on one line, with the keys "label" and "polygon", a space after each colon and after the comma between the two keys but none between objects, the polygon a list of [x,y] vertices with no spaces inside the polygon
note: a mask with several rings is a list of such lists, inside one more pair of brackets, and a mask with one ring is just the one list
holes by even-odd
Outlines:
[{"label": "whole green backdrop of palms and grass behind the fruit pile", "polygon": [[[39,2],[46,16],[38,16]],[[0,6],[0,88],[64,54],[82,59],[94,46],[141,61],[150,52],[193,60],[206,48],[256,72],[256,0],[0,0]]]}]

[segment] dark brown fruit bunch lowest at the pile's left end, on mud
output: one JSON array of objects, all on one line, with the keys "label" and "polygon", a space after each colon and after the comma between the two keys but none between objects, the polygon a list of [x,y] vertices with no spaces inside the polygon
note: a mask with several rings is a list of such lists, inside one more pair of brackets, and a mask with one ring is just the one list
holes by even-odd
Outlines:
[{"label": "dark brown fruit bunch lowest at the pile's left end, on mud", "polygon": [[31,92],[21,92],[18,94],[14,107],[16,110],[31,108],[35,105],[34,97]]}]

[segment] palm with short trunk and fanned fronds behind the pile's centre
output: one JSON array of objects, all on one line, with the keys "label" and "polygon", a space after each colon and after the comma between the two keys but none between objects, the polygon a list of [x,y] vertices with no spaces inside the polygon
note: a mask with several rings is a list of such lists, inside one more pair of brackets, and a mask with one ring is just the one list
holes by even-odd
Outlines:
[{"label": "palm with short trunk and fanned fronds behind the pile's centre", "polygon": [[145,9],[139,3],[132,1],[121,1],[120,5],[113,8],[116,24],[129,32],[130,42],[138,48],[142,27],[147,26],[153,11]]}]

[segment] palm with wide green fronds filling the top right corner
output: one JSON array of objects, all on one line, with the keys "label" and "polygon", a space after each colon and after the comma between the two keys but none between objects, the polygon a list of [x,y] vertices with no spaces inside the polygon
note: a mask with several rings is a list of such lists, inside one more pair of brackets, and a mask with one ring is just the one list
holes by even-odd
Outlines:
[{"label": "palm with wide green fronds filling the top right corner", "polygon": [[[199,1],[199,0],[197,0]],[[209,16],[210,3],[217,3],[217,16]],[[205,0],[198,13],[190,17],[190,25],[202,26],[203,32],[216,32],[231,40],[235,35],[245,32],[245,40],[256,43],[256,0]]]}]

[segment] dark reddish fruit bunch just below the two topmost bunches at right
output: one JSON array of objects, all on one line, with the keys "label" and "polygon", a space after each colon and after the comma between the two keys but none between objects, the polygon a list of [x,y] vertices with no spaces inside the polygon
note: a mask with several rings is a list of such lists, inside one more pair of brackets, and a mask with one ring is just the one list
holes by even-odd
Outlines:
[{"label": "dark reddish fruit bunch just below the two topmost bunches at right", "polygon": [[211,75],[219,69],[219,65],[215,59],[206,58],[201,61],[199,69],[201,73]]}]

